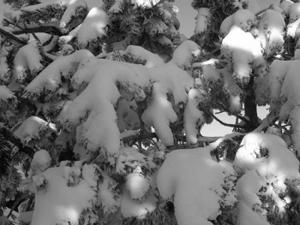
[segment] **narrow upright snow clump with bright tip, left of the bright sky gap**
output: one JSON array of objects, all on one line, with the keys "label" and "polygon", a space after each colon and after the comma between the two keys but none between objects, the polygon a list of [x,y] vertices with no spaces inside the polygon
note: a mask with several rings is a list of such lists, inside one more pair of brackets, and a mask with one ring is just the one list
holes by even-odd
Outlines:
[{"label": "narrow upright snow clump with bright tip, left of the bright sky gap", "polygon": [[188,102],[184,109],[183,123],[188,143],[196,144],[198,142],[199,126],[205,122],[204,114],[197,106],[204,101],[204,96],[199,89],[190,89],[188,93]]}]

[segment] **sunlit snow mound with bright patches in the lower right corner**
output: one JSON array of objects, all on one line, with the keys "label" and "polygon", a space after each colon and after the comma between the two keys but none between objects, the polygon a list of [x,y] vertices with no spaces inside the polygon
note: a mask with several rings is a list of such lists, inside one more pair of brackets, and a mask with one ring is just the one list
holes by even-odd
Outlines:
[{"label": "sunlit snow mound with bright patches in the lower right corner", "polygon": [[240,199],[238,221],[269,224],[267,211],[259,210],[263,204],[259,196],[271,197],[279,212],[285,211],[286,202],[279,194],[286,189],[286,179],[299,179],[299,161],[276,135],[250,133],[241,146],[234,161],[236,171],[245,173],[236,186]]}]

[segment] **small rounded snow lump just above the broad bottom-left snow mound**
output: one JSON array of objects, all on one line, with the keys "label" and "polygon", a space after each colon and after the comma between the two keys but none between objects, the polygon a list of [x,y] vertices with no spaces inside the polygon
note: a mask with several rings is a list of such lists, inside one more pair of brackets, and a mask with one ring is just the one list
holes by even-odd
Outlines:
[{"label": "small rounded snow lump just above the broad bottom-left snow mound", "polygon": [[46,150],[37,151],[31,161],[32,175],[39,175],[51,165],[50,154]]}]

